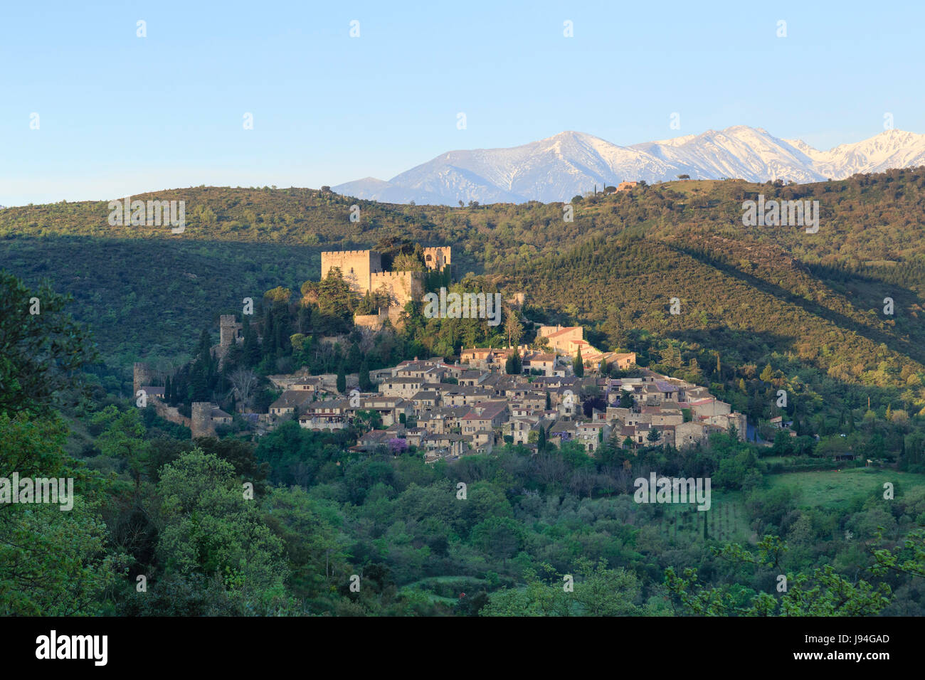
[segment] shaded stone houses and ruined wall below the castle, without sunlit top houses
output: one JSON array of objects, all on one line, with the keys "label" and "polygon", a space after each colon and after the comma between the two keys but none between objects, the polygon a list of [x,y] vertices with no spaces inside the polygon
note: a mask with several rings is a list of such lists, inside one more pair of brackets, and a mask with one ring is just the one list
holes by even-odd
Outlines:
[{"label": "shaded stone houses and ruined wall below the castle, without sunlit top houses", "polygon": [[[442,357],[402,362],[371,372],[375,392],[356,389],[355,375],[348,377],[346,393],[337,391],[333,375],[270,376],[281,390],[277,401],[266,414],[241,415],[258,433],[288,419],[317,431],[369,424],[357,451],[414,447],[428,462],[490,453],[505,442],[536,450],[542,441],[578,441],[593,455],[609,439],[629,449],[656,443],[684,449],[730,427],[745,438],[744,414],[684,380],[646,369],[636,369],[639,377],[575,377],[572,357],[538,352],[549,375],[505,375],[507,352],[468,350],[479,357],[470,363],[447,364]],[[634,356],[623,361],[633,367]],[[531,371],[526,360],[524,370]],[[136,373],[136,381],[141,378]],[[231,423],[232,415],[213,403],[193,402],[186,419],[160,401],[163,388],[139,389],[159,414],[191,427],[193,437],[214,436],[217,426]]]}]

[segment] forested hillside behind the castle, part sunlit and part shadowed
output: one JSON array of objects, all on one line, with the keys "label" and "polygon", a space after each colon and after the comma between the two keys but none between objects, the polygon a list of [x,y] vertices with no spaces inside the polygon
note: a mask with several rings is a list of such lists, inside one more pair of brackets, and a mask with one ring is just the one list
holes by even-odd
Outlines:
[{"label": "forested hillside behind the castle, part sunlit and part shadowed", "polygon": [[[744,227],[742,202],[818,200],[820,229]],[[187,229],[110,227],[105,202],[0,210],[0,266],[76,298],[108,364],[190,352],[219,314],[317,278],[320,251],[389,240],[453,246],[485,276],[611,347],[699,337],[744,363],[790,352],[848,382],[906,387],[925,358],[925,168],[807,185],[679,181],[561,204],[376,204],[305,189],[193,188]],[[360,207],[351,221],[351,205]],[[667,276],[666,276],[667,275]],[[672,297],[681,314],[669,315]],[[894,315],[884,315],[884,298]],[[101,311],[102,310],[102,311]],[[685,357],[686,359],[687,357]]]}]

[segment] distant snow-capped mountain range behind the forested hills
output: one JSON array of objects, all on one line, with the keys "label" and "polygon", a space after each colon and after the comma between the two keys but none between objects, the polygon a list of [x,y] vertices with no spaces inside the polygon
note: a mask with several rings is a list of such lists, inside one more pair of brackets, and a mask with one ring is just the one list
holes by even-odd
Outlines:
[{"label": "distant snow-capped mountain range behind the forested hills", "polygon": [[819,151],[744,125],[671,140],[617,146],[584,132],[560,132],[508,149],[450,151],[388,181],[367,177],[333,191],[382,203],[551,203],[615,185],[692,179],[797,183],[925,165],[925,134],[886,130],[863,142]]}]

